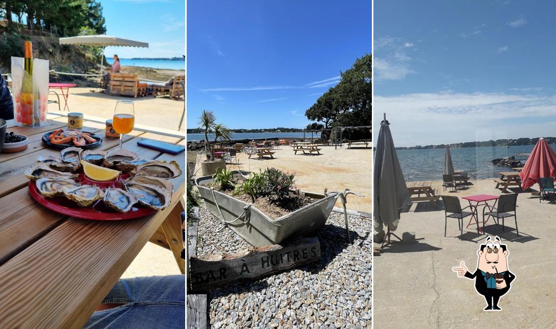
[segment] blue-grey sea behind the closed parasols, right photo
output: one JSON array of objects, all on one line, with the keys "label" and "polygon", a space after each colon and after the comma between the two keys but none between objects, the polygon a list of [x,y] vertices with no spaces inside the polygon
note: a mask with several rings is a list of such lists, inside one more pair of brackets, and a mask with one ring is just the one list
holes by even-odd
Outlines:
[{"label": "blue-grey sea behind the closed parasols, right photo", "polygon": [[[527,158],[517,157],[519,153],[530,153],[534,145],[450,148],[454,170],[476,173],[477,178],[492,178],[500,171],[512,171],[508,167],[493,166],[490,161],[495,158],[515,156],[525,163]],[[551,145],[554,149],[554,144]],[[444,148],[435,149],[399,149],[398,159],[406,182],[440,181],[444,172]],[[498,177],[498,175],[496,175]]]}]

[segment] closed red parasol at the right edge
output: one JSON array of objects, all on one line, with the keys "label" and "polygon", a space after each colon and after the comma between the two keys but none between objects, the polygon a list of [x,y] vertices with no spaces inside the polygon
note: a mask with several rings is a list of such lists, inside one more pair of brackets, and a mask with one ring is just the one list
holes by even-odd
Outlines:
[{"label": "closed red parasol at the right edge", "polygon": [[522,178],[523,191],[539,182],[539,177],[554,177],[556,175],[556,153],[544,138],[540,138],[531,151],[523,170],[519,173]]}]

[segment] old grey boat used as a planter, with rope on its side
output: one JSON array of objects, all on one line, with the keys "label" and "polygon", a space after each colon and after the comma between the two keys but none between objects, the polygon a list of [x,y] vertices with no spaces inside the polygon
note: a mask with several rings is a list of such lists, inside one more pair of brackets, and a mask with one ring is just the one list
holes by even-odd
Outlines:
[{"label": "old grey boat used as a planter, with rope on its side", "polygon": [[[239,171],[234,173],[242,175]],[[203,186],[209,186],[213,180],[212,176],[195,180],[207,209],[212,215],[225,221],[245,241],[257,247],[276,245],[294,236],[315,236],[324,227],[337,198],[342,196],[339,192],[326,195],[305,192],[306,196],[320,197],[320,200],[272,220],[251,203]]]}]

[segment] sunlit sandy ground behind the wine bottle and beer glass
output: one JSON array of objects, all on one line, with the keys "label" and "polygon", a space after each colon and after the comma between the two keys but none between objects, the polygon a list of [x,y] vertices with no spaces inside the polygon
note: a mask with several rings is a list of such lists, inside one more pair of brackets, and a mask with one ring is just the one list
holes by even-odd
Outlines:
[{"label": "sunlit sandy ground behind the wine bottle and beer glass", "polygon": [[[63,110],[64,101],[60,89],[52,89],[58,92],[60,96],[61,109]],[[102,118],[112,118],[117,99],[128,99],[134,102],[135,123],[145,124],[147,126],[178,129],[178,123],[183,113],[183,98],[173,100],[168,97],[126,97],[112,96],[105,93],[93,93],[91,87],[69,88],[68,107],[70,112],[81,112],[85,115],[92,115]],[[54,94],[49,94],[50,101],[56,100]],[[58,104],[51,103],[48,105],[48,111],[51,113],[58,112]],[[67,113],[67,111],[64,111]],[[185,118],[180,131],[185,131]]]}]

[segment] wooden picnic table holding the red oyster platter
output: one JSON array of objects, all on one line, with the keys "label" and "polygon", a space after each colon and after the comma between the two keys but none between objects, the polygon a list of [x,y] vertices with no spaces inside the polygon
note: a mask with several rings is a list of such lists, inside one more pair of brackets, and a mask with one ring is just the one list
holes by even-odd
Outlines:
[{"label": "wooden picnic table holding the red oyster platter", "polygon": [[[133,258],[151,240],[169,248],[182,273],[185,263],[181,212],[185,179],[174,178],[171,206],[154,215],[127,221],[80,220],[47,210],[29,196],[24,171],[37,157],[59,156],[41,142],[44,133],[67,125],[49,114],[47,126],[13,126],[29,137],[22,152],[0,154],[0,328],[81,328]],[[118,147],[105,138],[105,125],[84,120],[83,129],[103,138],[97,149]],[[166,136],[165,136],[166,135]],[[141,158],[172,161],[185,173],[185,156],[137,145],[148,138],[185,145],[182,137],[133,130],[123,147]],[[170,251],[168,251],[170,252]]]}]

